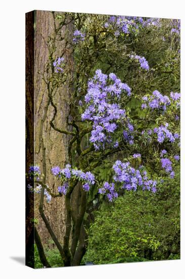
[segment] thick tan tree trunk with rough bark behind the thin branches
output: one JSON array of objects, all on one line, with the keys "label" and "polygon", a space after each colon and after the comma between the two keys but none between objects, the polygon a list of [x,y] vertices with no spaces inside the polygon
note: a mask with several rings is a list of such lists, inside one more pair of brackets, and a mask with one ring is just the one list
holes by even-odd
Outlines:
[{"label": "thick tan tree trunk with rough bark behind the thin branches", "polygon": [[[58,13],[59,14],[59,13]],[[48,92],[47,85],[42,77],[47,79],[50,75],[50,71],[47,72],[46,64],[49,61],[49,49],[48,40],[54,36],[55,32],[55,14],[47,11],[35,12],[35,45],[34,45],[34,141],[35,141],[35,162],[40,165],[41,172],[43,155],[41,149],[41,125],[43,124],[42,137],[43,145],[45,148],[45,166],[46,177],[45,181],[53,189],[53,192],[57,191],[56,180],[54,181],[51,173],[51,168],[55,165],[63,167],[68,162],[67,148],[69,136],[61,134],[54,130],[50,121],[54,114],[54,108],[48,106]],[[64,28],[61,33],[64,33]],[[55,43],[56,51],[54,55],[61,56],[64,48],[64,42],[57,40]],[[66,59],[71,59],[70,56]],[[66,129],[66,116],[69,111],[68,100],[69,99],[69,86],[66,84],[58,88],[53,101],[57,107],[57,115],[55,119],[55,125],[60,129]],[[42,123],[43,115],[46,113],[46,118]],[[63,241],[65,233],[65,200],[63,197],[55,198],[50,204],[44,203],[44,213],[50,221],[50,224],[60,242]],[[51,236],[48,233],[47,228],[43,223],[42,218],[38,212],[38,199],[35,201],[35,218],[38,218],[39,223],[37,226],[38,232],[42,239],[42,243],[48,243],[48,239]]]}]

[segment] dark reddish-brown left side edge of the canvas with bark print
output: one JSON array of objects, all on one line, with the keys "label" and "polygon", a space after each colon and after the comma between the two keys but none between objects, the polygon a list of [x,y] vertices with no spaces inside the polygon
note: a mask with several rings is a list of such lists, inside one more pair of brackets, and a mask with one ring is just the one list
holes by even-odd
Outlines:
[{"label": "dark reddish-brown left side edge of the canvas with bark print", "polygon": [[[26,172],[34,161],[34,12],[26,14]],[[34,218],[34,195],[28,193],[29,181],[26,179],[26,265],[33,264],[33,251],[31,249],[34,242],[33,223]],[[32,266],[33,267],[33,266]]]}]

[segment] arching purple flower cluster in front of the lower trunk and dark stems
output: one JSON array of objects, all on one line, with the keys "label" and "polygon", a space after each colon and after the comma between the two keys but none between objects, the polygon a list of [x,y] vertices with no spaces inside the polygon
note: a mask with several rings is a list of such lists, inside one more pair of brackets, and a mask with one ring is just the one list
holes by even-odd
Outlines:
[{"label": "arching purple flower cluster in front of the lower trunk and dark stems", "polygon": [[59,166],[52,168],[52,173],[57,176],[62,181],[62,186],[58,187],[59,193],[66,194],[69,187],[69,181],[72,179],[77,179],[82,181],[82,188],[84,191],[90,189],[90,185],[95,184],[95,176],[90,172],[83,172],[77,168],[71,168],[71,165],[67,164],[65,168],[60,169]]}]

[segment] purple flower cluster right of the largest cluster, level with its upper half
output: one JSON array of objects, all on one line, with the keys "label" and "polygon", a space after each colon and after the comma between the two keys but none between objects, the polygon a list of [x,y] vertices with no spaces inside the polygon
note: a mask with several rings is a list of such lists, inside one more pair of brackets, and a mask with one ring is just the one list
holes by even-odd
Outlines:
[{"label": "purple flower cluster right of the largest cluster, level with its upper half", "polygon": [[158,90],[155,90],[151,96],[143,97],[142,109],[150,108],[152,110],[166,110],[166,107],[171,104],[168,96],[162,95]]}]

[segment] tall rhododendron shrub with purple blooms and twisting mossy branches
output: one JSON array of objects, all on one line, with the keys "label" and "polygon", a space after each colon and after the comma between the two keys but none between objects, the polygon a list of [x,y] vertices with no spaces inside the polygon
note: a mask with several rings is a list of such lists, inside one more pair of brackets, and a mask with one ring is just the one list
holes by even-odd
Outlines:
[{"label": "tall rhododendron shrub with purple blooms and twisting mossy branches", "polygon": [[[65,266],[81,263],[94,212],[119,203],[125,192],[158,195],[164,181],[172,185],[178,177],[180,160],[179,21],[70,17],[72,36],[65,40],[73,65],[67,48],[59,56],[51,51],[47,83],[50,125],[69,140],[66,164],[51,166],[54,186],[45,181],[44,161],[30,166],[27,174],[28,189],[40,195],[40,215]],[[59,26],[67,24],[66,17],[59,18]],[[67,82],[64,130],[55,124],[62,108],[57,111],[53,96]],[[55,198],[65,199],[62,244],[43,211],[44,201]],[[131,237],[130,232],[129,243]],[[159,246],[154,238],[149,244],[154,250]]]}]

